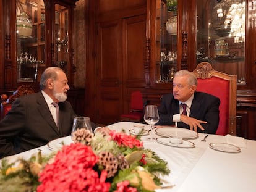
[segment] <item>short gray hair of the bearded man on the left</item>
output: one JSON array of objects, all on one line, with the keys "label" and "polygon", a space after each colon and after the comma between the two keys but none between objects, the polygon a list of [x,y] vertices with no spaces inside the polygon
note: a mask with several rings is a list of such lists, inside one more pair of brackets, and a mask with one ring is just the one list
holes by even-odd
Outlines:
[{"label": "short gray hair of the bearded man on the left", "polygon": [[46,83],[48,79],[51,80],[56,80],[57,78],[57,71],[62,71],[63,70],[59,67],[48,67],[45,69],[45,71],[43,72],[43,74],[41,75],[41,79],[40,79],[40,90],[43,90],[46,87]]}]

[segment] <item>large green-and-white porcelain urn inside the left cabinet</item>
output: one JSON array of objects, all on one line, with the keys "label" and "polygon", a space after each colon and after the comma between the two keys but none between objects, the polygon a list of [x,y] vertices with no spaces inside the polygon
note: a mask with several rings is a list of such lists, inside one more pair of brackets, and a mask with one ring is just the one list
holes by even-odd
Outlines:
[{"label": "large green-and-white porcelain urn inside the left cabinet", "polygon": [[17,34],[28,37],[32,35],[32,22],[28,19],[28,15],[25,12],[22,12],[20,15],[17,16]]}]

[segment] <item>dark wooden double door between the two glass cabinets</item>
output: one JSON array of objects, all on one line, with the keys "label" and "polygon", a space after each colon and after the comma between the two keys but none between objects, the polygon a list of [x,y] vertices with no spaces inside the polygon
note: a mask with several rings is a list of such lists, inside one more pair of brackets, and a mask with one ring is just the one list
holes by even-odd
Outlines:
[{"label": "dark wooden double door between the two glass cabinets", "polygon": [[145,86],[145,23],[144,14],[98,24],[98,123],[119,122],[129,110],[130,92]]}]

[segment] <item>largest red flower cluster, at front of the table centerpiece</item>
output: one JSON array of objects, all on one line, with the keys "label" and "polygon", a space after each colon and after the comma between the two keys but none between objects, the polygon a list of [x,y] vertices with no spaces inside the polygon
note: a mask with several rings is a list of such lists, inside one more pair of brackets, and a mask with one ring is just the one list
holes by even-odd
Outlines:
[{"label": "largest red flower cluster, at front of the table centerpiece", "polygon": [[109,191],[110,183],[105,183],[106,172],[93,170],[98,157],[90,146],[76,143],[64,146],[52,164],[46,165],[40,173],[37,191]]}]

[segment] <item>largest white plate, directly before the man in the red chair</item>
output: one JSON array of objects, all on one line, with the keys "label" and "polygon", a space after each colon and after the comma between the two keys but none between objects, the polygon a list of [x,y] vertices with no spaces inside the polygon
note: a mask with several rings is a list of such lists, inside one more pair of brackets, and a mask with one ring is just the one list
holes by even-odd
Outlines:
[{"label": "largest white plate, directly before the man in the red chair", "polygon": [[177,128],[177,127],[163,127],[163,128],[156,128],[155,130],[157,135],[160,136],[172,136],[175,138],[182,138],[182,139],[192,139],[198,136],[198,133],[186,128]]}]

